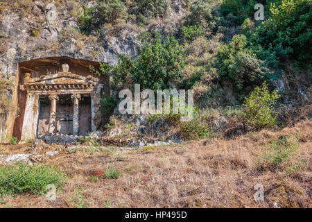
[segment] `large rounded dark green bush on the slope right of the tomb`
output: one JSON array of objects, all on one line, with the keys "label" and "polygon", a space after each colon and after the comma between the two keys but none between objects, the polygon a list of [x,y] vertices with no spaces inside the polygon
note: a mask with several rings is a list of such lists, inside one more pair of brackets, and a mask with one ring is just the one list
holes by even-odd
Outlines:
[{"label": "large rounded dark green bush on the slope right of the tomb", "polygon": [[144,41],[139,56],[132,60],[131,77],[144,89],[167,89],[169,81],[179,84],[184,63],[183,47],[173,36],[158,34],[153,42]]}]

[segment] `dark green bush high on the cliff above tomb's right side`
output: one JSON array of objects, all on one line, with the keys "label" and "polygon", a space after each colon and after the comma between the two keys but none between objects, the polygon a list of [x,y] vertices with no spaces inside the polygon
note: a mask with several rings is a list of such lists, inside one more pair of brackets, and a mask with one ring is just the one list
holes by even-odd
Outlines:
[{"label": "dark green bush high on the cliff above tomb's right side", "polygon": [[116,23],[127,17],[127,8],[120,0],[105,0],[89,8],[84,8],[78,17],[78,26],[83,33],[90,33],[105,23]]}]

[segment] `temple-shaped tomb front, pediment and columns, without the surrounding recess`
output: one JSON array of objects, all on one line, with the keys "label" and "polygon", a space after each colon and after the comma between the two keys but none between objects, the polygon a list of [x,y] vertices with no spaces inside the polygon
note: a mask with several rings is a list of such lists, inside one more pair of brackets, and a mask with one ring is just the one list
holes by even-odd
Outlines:
[{"label": "temple-shaped tomb front, pediment and columns, without the surrounding recess", "polygon": [[[101,81],[98,78],[94,78],[94,76],[85,77],[72,74],[69,72],[69,65],[67,64],[62,65],[61,72],[39,78],[31,78],[31,74],[26,73],[24,85],[20,85],[20,89],[27,93],[22,138],[34,139],[37,136],[40,101],[44,98],[46,99],[43,100],[42,105],[46,105],[44,109],[42,108],[42,112],[50,109],[49,119],[46,119],[46,122],[49,122],[49,127],[47,130],[44,130],[46,127],[40,125],[41,133],[46,132],[46,135],[54,135],[65,132],[66,134],[80,135],[80,128],[82,127],[89,127],[91,131],[96,130],[101,122],[101,114],[98,110],[102,87]],[[67,102],[66,99],[69,99],[69,101]],[[83,101],[84,105],[81,112],[89,107],[90,126],[85,126],[85,121],[83,121],[83,124],[79,124],[81,115],[79,112],[80,101]],[[47,106],[49,104],[50,107]],[[67,108],[62,109],[62,105],[65,105]],[[69,112],[69,110],[71,111]],[[81,115],[81,118],[86,119],[87,117]],[[45,121],[39,122],[44,124]],[[72,124],[72,129],[68,129],[69,123]],[[83,133],[85,131],[81,130]]]}]

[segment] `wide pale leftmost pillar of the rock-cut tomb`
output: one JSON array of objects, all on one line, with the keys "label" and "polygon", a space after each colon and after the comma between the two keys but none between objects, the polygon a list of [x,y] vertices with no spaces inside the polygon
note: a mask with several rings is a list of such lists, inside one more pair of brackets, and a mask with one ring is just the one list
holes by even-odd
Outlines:
[{"label": "wide pale leftmost pillar of the rock-cut tomb", "polygon": [[39,95],[27,94],[21,140],[35,139],[39,115]]}]

